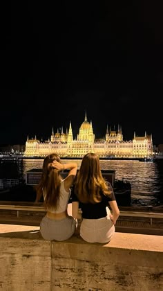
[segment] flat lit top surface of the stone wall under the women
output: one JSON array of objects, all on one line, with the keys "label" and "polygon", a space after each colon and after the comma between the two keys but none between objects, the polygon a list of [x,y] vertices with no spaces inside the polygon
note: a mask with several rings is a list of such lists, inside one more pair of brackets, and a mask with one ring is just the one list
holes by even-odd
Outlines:
[{"label": "flat lit top surface of the stone wall under the women", "polygon": [[[0,224],[0,238],[22,238],[30,240],[43,240],[39,233],[39,227],[16,225],[16,224]],[[124,249],[140,249],[151,252],[163,252],[163,236],[153,236],[139,233],[121,233],[115,232],[115,235],[108,244],[90,244],[86,243],[79,237],[79,230],[76,235],[65,241],[66,243],[80,243],[87,245],[98,245],[104,247],[118,247]],[[61,243],[65,243],[61,242]],[[53,243],[57,243],[53,241]]]}]

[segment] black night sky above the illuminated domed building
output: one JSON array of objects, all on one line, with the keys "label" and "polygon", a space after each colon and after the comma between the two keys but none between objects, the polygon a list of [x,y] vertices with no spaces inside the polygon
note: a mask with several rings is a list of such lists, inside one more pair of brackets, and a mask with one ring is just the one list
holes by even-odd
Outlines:
[{"label": "black night sky above the illuminated domed building", "polygon": [[[57,3],[58,2],[58,3]],[[1,39],[0,144],[92,121],[163,143],[161,1],[12,2]]]}]

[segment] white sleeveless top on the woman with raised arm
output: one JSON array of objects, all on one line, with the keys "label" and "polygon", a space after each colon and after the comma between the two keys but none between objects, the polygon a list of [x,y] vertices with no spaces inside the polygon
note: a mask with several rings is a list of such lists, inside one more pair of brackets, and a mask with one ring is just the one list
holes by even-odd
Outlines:
[{"label": "white sleeveless top on the woman with raised arm", "polygon": [[[43,192],[44,197],[46,197],[45,191]],[[64,212],[67,209],[68,206],[68,200],[70,198],[70,189],[67,192],[64,188],[64,180],[61,181],[60,186],[60,197],[59,197],[59,204],[57,209],[54,209],[53,207],[47,207],[47,211],[50,211],[52,213],[61,213]]]}]

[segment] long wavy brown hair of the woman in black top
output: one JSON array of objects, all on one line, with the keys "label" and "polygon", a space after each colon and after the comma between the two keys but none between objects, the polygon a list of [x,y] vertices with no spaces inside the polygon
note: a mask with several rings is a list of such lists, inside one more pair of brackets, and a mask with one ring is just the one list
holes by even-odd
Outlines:
[{"label": "long wavy brown hair of the woman in black top", "polygon": [[99,157],[95,153],[88,153],[83,157],[75,182],[75,193],[83,203],[100,202],[100,193],[111,195],[111,189],[102,176]]}]

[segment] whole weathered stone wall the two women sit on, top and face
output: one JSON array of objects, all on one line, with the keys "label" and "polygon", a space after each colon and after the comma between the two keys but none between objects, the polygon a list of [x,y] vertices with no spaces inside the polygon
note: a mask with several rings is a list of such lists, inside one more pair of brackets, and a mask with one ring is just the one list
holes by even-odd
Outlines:
[{"label": "whole weathered stone wall the two women sit on, top and face", "polygon": [[39,227],[0,224],[0,258],[1,290],[163,290],[162,236],[115,233],[100,245],[77,233],[58,243]]}]

